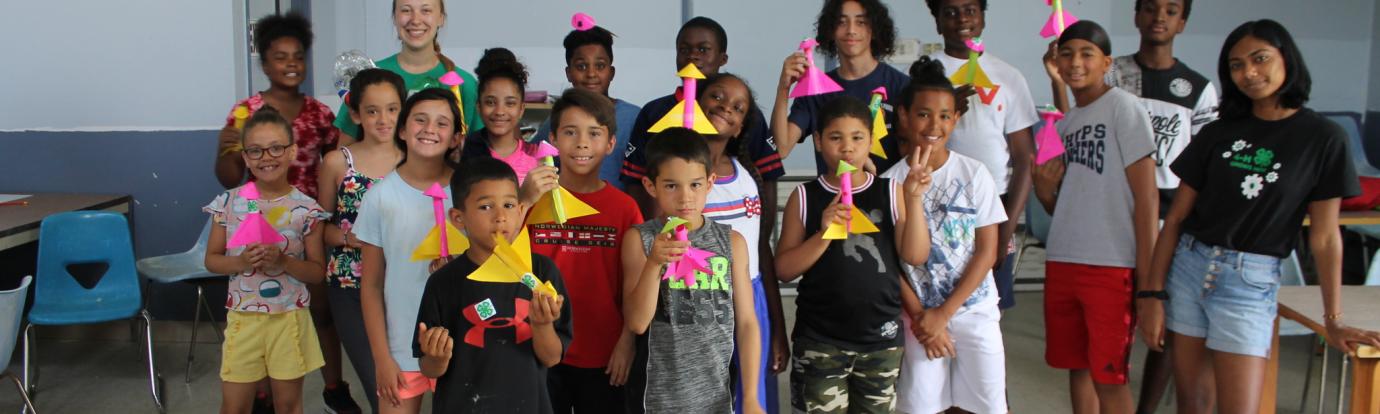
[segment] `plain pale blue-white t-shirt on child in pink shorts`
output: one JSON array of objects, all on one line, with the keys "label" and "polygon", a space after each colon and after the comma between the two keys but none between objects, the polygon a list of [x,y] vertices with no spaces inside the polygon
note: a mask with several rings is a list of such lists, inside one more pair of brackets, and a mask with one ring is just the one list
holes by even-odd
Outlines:
[{"label": "plain pale blue-white t-shirt on child in pink shorts", "polygon": [[[446,186],[450,195],[450,186]],[[451,207],[446,197],[446,208]],[[384,248],[384,309],[388,323],[388,352],[403,371],[418,371],[413,357],[417,334],[417,306],[426,287],[431,261],[413,261],[413,250],[436,226],[432,197],[407,185],[397,171],[378,181],[364,193],[359,217],[351,229],[360,241]],[[460,254],[453,251],[451,254]]]}]

